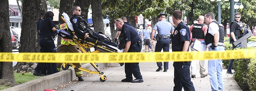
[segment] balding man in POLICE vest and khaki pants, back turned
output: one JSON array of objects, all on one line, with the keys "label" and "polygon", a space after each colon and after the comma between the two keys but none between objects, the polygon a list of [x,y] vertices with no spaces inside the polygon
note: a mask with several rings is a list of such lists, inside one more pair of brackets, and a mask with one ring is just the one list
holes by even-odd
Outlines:
[{"label": "balding man in POLICE vest and khaki pants, back turned", "polygon": [[[195,38],[197,38],[200,41],[203,41],[205,38],[205,35],[207,33],[208,26],[204,25],[204,16],[200,15],[197,19],[198,23],[193,24],[190,26],[190,32],[192,33],[192,39],[191,39],[191,45],[193,45],[193,42],[195,41]],[[195,45],[196,46],[196,45]],[[191,51],[196,51],[195,49],[192,48],[191,46]],[[197,74],[197,60],[192,60],[191,61],[191,78],[196,78]],[[208,73],[205,72],[205,61],[199,61],[200,64],[200,75],[201,77],[208,76]]]}]

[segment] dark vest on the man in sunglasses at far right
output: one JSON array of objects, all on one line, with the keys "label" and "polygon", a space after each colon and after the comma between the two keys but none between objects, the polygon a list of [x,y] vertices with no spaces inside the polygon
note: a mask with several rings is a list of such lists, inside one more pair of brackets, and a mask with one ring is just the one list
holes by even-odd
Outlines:
[{"label": "dark vest on the man in sunglasses at far right", "polygon": [[[233,21],[230,25],[230,33],[233,32],[235,36],[238,36],[238,39],[241,38],[243,35],[241,35],[240,25],[236,23],[236,21]],[[234,41],[233,38],[231,38],[231,41]]]}]

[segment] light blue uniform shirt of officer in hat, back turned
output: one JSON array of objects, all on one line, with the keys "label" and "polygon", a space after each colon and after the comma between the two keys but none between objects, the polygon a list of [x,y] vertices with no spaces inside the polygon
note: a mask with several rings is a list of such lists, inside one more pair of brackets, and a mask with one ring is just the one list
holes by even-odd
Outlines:
[{"label": "light blue uniform shirt of officer in hat, back turned", "polygon": [[154,30],[157,30],[158,35],[170,36],[170,32],[173,31],[173,26],[171,23],[161,20],[155,24]]}]

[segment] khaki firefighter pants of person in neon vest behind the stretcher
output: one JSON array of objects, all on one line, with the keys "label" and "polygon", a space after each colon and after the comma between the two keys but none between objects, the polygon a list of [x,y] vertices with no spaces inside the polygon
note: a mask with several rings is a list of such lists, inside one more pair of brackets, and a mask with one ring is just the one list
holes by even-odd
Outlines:
[{"label": "khaki firefighter pants of person in neon vest behind the stretcher", "polygon": [[[59,45],[59,47],[57,48],[57,52],[58,53],[81,53],[80,48],[77,45]],[[73,63],[73,65],[81,67],[81,63]],[[61,69],[62,64],[61,63],[57,63],[57,69],[60,70]],[[75,73],[77,77],[83,76],[83,72],[81,70],[75,69]]]}]

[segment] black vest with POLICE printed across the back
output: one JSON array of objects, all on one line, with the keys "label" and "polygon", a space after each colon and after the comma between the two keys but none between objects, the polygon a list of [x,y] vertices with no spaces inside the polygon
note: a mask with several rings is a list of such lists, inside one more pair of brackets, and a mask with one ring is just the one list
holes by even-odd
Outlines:
[{"label": "black vest with POLICE printed across the back", "polygon": [[194,24],[192,28],[192,38],[204,39],[203,24]]}]

